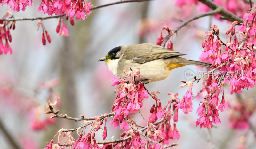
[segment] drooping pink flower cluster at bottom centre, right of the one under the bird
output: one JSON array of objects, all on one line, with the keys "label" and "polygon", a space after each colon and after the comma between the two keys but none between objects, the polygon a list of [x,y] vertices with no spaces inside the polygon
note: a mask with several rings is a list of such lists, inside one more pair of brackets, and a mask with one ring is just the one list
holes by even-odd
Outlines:
[{"label": "drooping pink flower cluster at bottom centre, right of the one under the bird", "polygon": [[[178,108],[179,103],[178,93],[168,93],[171,99],[168,100],[167,105],[162,108],[161,101],[157,98],[159,92],[152,92],[152,98],[155,100],[154,105],[151,107],[150,112],[152,113],[149,117],[149,126],[147,127],[147,136],[154,141],[163,140],[162,144],[168,145],[169,139],[179,139],[180,134],[176,128],[176,122],[178,122]],[[154,111],[154,112],[153,112]],[[153,119],[152,119],[153,117]],[[156,120],[164,119],[163,122],[158,125],[152,125]],[[173,119],[173,129],[171,126],[171,119]],[[153,120],[153,121],[152,121]],[[149,142],[148,142],[149,144]],[[161,148],[158,144],[153,143],[152,148]]]}]

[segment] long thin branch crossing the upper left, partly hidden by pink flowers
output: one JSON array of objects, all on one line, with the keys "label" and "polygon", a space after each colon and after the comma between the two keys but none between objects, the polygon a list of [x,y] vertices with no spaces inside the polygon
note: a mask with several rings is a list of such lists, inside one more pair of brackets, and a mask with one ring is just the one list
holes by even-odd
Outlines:
[{"label": "long thin branch crossing the upper left, partly hidden by pink flowers", "polygon": [[[115,4],[122,4],[122,3],[131,3],[131,2],[144,2],[144,1],[152,1],[152,0],[121,0],[119,2],[113,2],[113,3],[109,3],[109,4],[104,4],[104,5],[100,5],[100,6],[92,6],[92,8],[90,10],[95,10],[98,8],[102,8],[102,7],[107,7],[107,6],[111,6],[111,5],[115,5]],[[64,14],[65,15],[65,14]],[[56,16],[46,16],[46,17],[23,17],[23,18],[16,18],[16,17],[11,17],[11,18],[0,18],[0,21],[25,21],[25,20],[46,20],[46,19],[52,19],[52,18],[60,18],[64,15],[56,15]]]}]

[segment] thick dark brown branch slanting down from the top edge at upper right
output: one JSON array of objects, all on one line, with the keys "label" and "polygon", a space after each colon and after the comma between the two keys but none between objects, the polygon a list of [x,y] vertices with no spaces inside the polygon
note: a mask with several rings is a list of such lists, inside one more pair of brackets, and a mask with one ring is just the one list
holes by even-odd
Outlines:
[{"label": "thick dark brown branch slanting down from the top edge at upper right", "polygon": [[224,9],[223,7],[217,5],[212,0],[198,0],[198,1],[202,2],[203,4],[205,4],[206,6],[210,7],[213,10],[220,9],[219,14],[224,16],[227,20],[229,20],[231,22],[233,22],[233,21],[238,21],[240,23],[244,22],[244,20],[241,17],[239,17],[239,16],[229,12],[228,10]]}]

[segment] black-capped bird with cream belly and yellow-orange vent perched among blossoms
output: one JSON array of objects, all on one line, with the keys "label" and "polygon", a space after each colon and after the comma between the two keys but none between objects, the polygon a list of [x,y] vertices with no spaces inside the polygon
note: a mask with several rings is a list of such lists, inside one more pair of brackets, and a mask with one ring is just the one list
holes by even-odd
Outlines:
[{"label": "black-capped bird with cream belly and yellow-orange vent perched among blossoms", "polygon": [[164,80],[172,69],[185,65],[211,66],[211,63],[180,57],[182,55],[185,54],[165,49],[157,44],[141,43],[115,47],[98,61],[105,61],[118,78],[125,77],[124,69],[140,68],[143,83]]}]

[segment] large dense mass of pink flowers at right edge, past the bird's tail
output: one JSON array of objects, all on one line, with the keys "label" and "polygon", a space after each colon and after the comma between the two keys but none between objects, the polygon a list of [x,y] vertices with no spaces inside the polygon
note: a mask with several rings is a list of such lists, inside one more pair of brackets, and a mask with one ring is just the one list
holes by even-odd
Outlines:
[{"label": "large dense mass of pink flowers at right edge, past the bird's tail", "polygon": [[206,32],[206,38],[202,43],[204,51],[200,55],[200,59],[211,62],[211,67],[218,67],[217,70],[222,73],[214,76],[209,75],[203,82],[204,91],[207,94],[196,111],[200,117],[195,122],[200,128],[212,128],[212,123],[220,123],[218,110],[229,109],[224,100],[224,94],[222,99],[219,99],[220,88],[223,87],[224,81],[230,82],[230,94],[240,94],[241,89],[255,86],[255,12],[256,8],[253,7],[250,12],[244,15],[244,23],[237,27],[238,31],[235,31],[238,22],[235,21],[229,25],[226,32],[227,35],[230,34],[227,37],[227,43],[221,41],[217,25],[213,25],[211,31]]}]

